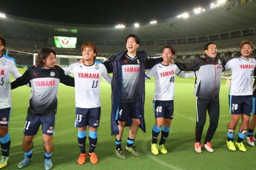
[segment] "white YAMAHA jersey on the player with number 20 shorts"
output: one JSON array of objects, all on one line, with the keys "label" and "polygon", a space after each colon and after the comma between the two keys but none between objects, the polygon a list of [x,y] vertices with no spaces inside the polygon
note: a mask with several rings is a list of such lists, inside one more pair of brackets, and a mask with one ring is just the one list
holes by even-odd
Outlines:
[{"label": "white YAMAHA jersey on the player with number 20 shorts", "polygon": [[256,61],[254,58],[233,58],[229,60],[225,69],[231,69],[231,84],[229,86],[229,95],[247,96],[253,95],[252,79]]}]

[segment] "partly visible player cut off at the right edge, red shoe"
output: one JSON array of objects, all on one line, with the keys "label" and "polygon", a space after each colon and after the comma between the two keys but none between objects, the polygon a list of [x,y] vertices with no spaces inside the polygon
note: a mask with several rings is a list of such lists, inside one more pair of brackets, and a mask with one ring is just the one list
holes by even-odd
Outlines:
[{"label": "partly visible player cut off at the right edge, red shoe", "polygon": [[[256,70],[254,69],[254,76],[256,75]],[[253,114],[253,118],[250,120],[249,122],[249,129],[248,129],[248,133],[246,136],[246,140],[247,143],[251,146],[254,146],[254,141],[256,141],[256,133],[255,136],[253,137],[253,131],[255,129],[255,125],[256,125],[256,81],[254,81],[253,83],[253,108],[252,108],[252,114]]]}]

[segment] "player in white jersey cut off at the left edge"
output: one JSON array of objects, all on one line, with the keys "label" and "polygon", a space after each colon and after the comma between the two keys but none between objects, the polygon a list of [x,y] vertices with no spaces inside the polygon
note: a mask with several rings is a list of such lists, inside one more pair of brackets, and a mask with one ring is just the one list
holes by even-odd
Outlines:
[{"label": "player in white jersey cut off at the left edge", "polygon": [[8,164],[11,144],[11,137],[8,133],[12,108],[10,74],[15,79],[21,76],[16,67],[15,60],[2,54],[4,47],[5,39],[0,36],[0,144],[2,148],[0,168]]}]

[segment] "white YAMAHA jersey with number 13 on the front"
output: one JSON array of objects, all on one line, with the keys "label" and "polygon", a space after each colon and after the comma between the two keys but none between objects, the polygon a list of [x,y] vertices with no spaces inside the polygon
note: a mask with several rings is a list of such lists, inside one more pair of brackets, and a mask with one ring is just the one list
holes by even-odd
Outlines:
[{"label": "white YAMAHA jersey with number 13 on the front", "polygon": [[106,67],[95,61],[90,66],[74,63],[63,70],[74,74],[75,106],[80,108],[100,107],[100,77],[102,76],[109,83],[112,81]]}]

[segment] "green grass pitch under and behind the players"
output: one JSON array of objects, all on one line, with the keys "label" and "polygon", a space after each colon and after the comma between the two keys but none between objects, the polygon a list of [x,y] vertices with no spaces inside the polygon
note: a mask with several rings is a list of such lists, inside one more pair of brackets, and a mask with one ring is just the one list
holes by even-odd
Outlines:
[{"label": "green grass pitch under and behind the players", "polygon": [[[24,69],[19,69],[21,73]],[[53,169],[245,169],[255,168],[256,147],[245,144],[247,152],[231,152],[226,146],[227,123],[229,122],[228,87],[222,81],[220,92],[220,118],[218,129],[212,139],[214,153],[204,149],[201,154],[194,151],[196,108],[194,91],[195,78],[175,77],[174,119],[171,132],[166,141],[167,155],[153,155],[150,151],[151,131],[155,119],[153,114],[154,80],[146,82],[145,119],[147,133],[138,131],[134,145],[140,153],[135,157],[126,153],[127,159],[121,160],[115,155],[115,137],[110,135],[111,88],[107,82],[101,83],[101,120],[98,128],[96,153],[99,162],[93,165],[86,159],[86,164],[78,165],[79,147],[77,129],[74,127],[75,104],[74,88],[63,84],[58,90],[58,110],[55,124]],[[23,159],[23,128],[27,115],[30,88],[19,87],[12,91],[12,114],[9,126],[11,135],[10,161],[6,169],[17,169]],[[202,142],[209,125],[205,123]],[[238,129],[238,128],[237,128]],[[87,132],[88,133],[88,132]],[[126,144],[128,128],[125,128],[122,147]],[[237,137],[237,130],[235,136]],[[235,138],[236,139],[236,138]],[[158,138],[159,140],[159,138]],[[25,169],[43,169],[43,140],[41,127],[35,136],[33,160]],[[88,137],[86,148],[88,151]],[[244,141],[244,143],[246,143]]]}]

